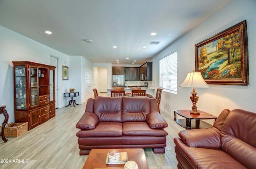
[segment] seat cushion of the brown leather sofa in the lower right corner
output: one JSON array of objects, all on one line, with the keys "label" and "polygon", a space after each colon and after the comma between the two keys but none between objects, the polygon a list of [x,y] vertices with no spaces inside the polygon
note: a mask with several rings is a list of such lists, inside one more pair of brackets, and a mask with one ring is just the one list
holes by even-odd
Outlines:
[{"label": "seat cushion of the brown leather sofa in the lower right corner", "polygon": [[[221,149],[188,147],[181,139],[174,138],[175,151],[179,151],[193,168],[198,169],[246,169],[241,163]],[[178,154],[176,152],[176,154]]]}]

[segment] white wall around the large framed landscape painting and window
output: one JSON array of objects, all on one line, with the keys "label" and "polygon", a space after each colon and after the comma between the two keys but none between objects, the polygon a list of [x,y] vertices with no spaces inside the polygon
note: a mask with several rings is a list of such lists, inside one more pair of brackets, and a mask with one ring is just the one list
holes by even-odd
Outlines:
[{"label": "white wall around the large framed landscape painting and window", "polygon": [[[228,108],[245,109],[256,112],[256,1],[233,0],[224,8],[204,20],[168,48],[153,58],[153,80],[159,86],[159,59],[178,50],[178,86],[184,81],[188,72],[195,70],[195,44],[247,20],[249,77],[250,85],[210,85],[209,89],[196,89],[199,100],[198,109],[213,115]],[[160,107],[173,115],[174,109],[191,109],[190,92],[192,88],[178,87],[178,94],[162,92]]]}]

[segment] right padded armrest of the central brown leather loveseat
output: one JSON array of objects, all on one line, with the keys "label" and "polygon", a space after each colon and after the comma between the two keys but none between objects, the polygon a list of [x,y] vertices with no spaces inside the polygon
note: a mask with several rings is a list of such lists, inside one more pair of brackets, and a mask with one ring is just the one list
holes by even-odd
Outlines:
[{"label": "right padded armrest of the central brown leather loveseat", "polygon": [[151,129],[163,129],[168,126],[164,117],[162,117],[158,111],[150,112],[146,121]]}]

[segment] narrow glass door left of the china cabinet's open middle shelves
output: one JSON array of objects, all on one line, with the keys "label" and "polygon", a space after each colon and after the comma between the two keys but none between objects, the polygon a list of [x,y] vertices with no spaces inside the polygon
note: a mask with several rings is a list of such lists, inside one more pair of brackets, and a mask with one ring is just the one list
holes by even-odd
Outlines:
[{"label": "narrow glass door left of the china cabinet's open middle shelves", "polygon": [[30,67],[30,105],[31,107],[38,105],[38,68]]}]

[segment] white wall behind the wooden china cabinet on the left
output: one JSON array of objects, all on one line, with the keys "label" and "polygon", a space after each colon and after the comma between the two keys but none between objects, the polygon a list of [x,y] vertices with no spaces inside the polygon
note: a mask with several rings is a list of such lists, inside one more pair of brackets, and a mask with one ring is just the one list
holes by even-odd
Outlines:
[{"label": "white wall behind the wooden china cabinet on the left", "polygon": [[[14,122],[12,61],[31,61],[50,65],[50,55],[58,57],[60,60],[59,91],[63,93],[68,86],[68,81],[62,81],[61,65],[68,66],[68,56],[2,26],[0,26],[0,37],[0,105],[6,105],[9,114],[8,122]],[[64,64],[64,61],[67,62]],[[60,100],[60,104],[64,105],[63,99]],[[0,115],[0,121],[3,120],[4,116]]]}]

